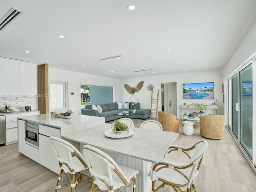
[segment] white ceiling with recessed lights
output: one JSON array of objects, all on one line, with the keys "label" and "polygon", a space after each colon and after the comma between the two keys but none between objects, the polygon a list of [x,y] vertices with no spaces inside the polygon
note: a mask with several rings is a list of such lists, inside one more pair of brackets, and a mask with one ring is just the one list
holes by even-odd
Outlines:
[{"label": "white ceiling with recessed lights", "polygon": [[0,6],[0,18],[12,7],[24,12],[0,32],[0,56],[113,78],[222,70],[256,20],[256,0],[1,0]]}]

